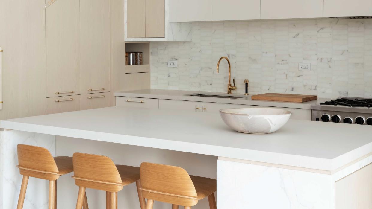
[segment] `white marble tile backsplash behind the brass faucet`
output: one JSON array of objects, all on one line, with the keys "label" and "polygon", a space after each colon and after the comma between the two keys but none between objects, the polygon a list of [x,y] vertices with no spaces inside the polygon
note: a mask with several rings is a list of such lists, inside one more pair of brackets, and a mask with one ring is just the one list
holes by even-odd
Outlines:
[{"label": "white marble tile backsplash behind the brass faucet", "polygon": [[[372,97],[372,19],[193,23],[192,42],[151,42],[151,88]],[[177,60],[177,68],[168,68]],[[298,71],[311,63],[311,71]],[[232,82],[232,81],[231,81]]]}]

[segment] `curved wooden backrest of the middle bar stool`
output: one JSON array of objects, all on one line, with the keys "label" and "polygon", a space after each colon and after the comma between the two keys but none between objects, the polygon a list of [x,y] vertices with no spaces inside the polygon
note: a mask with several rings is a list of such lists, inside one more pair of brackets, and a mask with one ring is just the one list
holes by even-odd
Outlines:
[{"label": "curved wooden backrest of the middle bar stool", "polygon": [[73,166],[73,178],[77,186],[107,192],[119,192],[123,189],[118,169],[109,157],[74,153]]}]

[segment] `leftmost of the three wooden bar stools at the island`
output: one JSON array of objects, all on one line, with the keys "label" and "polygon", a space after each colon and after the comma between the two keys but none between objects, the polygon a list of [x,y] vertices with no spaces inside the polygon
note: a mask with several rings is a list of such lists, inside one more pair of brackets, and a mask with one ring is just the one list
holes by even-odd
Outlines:
[{"label": "leftmost of the three wooden bar stools at the island", "polygon": [[[23,175],[17,209],[23,208],[29,176],[49,180],[49,209],[57,209],[57,179],[73,171],[72,157],[54,157],[44,147],[17,145],[19,173]],[[84,195],[83,208],[88,209]],[[81,209],[81,208],[80,208]]]}]

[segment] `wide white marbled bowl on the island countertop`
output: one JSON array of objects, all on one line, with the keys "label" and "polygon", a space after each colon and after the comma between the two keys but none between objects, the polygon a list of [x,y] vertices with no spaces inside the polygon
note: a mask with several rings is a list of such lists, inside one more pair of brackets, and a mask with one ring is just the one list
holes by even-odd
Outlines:
[{"label": "wide white marbled bowl on the island countertop", "polygon": [[235,131],[268,134],[279,130],[291,117],[291,111],[276,108],[235,108],[219,110],[222,120]]}]

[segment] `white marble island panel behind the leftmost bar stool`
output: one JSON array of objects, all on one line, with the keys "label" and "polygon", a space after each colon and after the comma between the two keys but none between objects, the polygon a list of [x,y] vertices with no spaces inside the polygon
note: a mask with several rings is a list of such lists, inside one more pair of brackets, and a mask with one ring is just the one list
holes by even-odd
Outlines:
[{"label": "white marble island panel behind the leftmost bar stool", "polygon": [[[18,164],[17,144],[45,147],[55,156],[55,136],[15,130],[0,131],[0,136],[0,208],[16,208],[22,182],[22,175],[15,167]],[[31,177],[23,208],[47,209],[48,187],[47,180]]]}]

